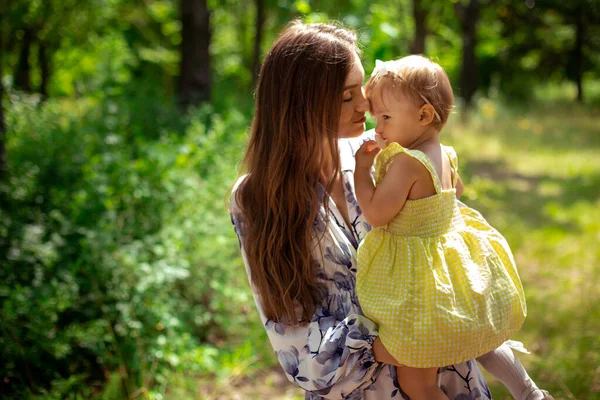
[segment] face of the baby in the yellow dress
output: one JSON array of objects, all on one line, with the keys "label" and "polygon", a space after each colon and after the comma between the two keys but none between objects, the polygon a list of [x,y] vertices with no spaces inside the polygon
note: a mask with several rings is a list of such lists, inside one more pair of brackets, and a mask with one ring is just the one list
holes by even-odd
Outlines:
[{"label": "face of the baby in the yellow dress", "polygon": [[369,99],[371,115],[377,121],[375,132],[386,144],[396,142],[409,147],[423,133],[419,107],[407,96],[382,90]]}]

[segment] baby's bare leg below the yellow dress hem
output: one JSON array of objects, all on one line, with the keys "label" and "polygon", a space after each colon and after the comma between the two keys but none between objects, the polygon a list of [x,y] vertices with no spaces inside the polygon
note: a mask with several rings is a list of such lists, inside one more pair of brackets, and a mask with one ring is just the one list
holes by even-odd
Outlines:
[{"label": "baby's bare leg below the yellow dress hem", "polygon": [[448,400],[437,385],[437,368],[397,367],[398,383],[411,400]]}]

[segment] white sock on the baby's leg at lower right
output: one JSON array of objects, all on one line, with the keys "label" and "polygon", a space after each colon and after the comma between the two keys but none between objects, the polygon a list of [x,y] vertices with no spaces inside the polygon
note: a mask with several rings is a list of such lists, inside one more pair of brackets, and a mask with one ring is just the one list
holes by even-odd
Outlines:
[{"label": "white sock on the baby's leg at lower right", "polygon": [[507,344],[477,358],[489,373],[498,379],[517,400],[542,400],[544,394],[537,389],[525,368]]}]

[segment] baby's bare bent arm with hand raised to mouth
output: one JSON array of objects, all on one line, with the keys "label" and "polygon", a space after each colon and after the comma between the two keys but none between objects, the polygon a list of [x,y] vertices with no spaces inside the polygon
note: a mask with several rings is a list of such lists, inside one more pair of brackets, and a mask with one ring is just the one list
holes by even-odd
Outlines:
[{"label": "baby's bare bent arm with hand raised to mouth", "polygon": [[394,157],[383,181],[375,187],[371,178],[371,166],[375,158],[367,152],[374,145],[364,143],[356,152],[354,187],[356,199],[367,222],[373,226],[387,224],[400,212],[410,189],[419,177],[419,164],[414,159],[398,154]]}]

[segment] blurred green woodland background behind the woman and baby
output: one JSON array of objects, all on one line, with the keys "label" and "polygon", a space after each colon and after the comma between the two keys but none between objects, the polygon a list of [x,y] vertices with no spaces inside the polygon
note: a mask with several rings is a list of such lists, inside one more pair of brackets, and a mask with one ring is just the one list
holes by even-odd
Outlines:
[{"label": "blurred green woodland background behind the woman and baby", "polygon": [[356,29],[367,76],[411,52],[448,71],[463,200],[526,288],[520,359],[599,399],[598,0],[2,0],[0,397],[302,397],[225,207],[254,71],[298,17]]}]

